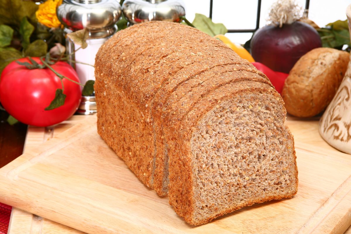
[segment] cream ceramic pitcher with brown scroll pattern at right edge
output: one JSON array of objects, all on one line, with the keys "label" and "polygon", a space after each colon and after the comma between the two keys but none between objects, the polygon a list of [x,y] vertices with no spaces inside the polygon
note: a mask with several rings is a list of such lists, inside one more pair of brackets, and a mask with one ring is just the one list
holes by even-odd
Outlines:
[{"label": "cream ceramic pitcher with brown scroll pattern at right edge", "polygon": [[[351,5],[346,15],[351,31]],[[319,133],[329,145],[351,154],[351,60],[338,91],[319,121]]]}]

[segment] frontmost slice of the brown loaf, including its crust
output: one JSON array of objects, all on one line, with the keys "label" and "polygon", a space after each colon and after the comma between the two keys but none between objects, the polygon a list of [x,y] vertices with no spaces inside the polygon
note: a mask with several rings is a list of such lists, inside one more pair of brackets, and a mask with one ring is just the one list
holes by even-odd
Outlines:
[{"label": "frontmost slice of the brown loaf, including its crust", "polygon": [[192,225],[297,192],[293,137],[282,98],[269,85],[241,81],[214,90],[166,120],[168,196]]}]

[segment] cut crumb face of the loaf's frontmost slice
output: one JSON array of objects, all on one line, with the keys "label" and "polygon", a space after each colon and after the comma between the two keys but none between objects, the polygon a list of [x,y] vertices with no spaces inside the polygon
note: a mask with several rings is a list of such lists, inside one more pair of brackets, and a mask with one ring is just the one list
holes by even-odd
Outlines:
[{"label": "cut crumb face of the loaf's frontmost slice", "polygon": [[200,225],[264,201],[297,192],[293,137],[276,96],[244,93],[217,105],[191,139],[193,210]]}]

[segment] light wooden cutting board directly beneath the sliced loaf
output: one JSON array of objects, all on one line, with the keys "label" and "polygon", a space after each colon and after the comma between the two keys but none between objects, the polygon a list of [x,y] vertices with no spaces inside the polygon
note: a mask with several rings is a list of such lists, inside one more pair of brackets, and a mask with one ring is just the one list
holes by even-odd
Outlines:
[{"label": "light wooden cutting board directly beneath the sliced loaf", "polygon": [[299,191],[193,227],[146,188],[89,118],[0,169],[0,201],[86,233],[343,233],[351,224],[351,155],[321,141],[317,121],[289,120]]}]

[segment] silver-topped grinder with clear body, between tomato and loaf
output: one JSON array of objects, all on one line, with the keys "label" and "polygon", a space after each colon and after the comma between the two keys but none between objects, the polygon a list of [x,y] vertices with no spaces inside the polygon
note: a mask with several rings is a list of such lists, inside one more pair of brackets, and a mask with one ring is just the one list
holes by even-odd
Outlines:
[{"label": "silver-topped grinder with clear body, between tomato and loaf", "polygon": [[[87,80],[95,80],[95,55],[100,46],[116,32],[115,23],[120,15],[121,7],[117,0],[63,0],[57,8],[58,19],[65,26],[66,33],[84,28],[89,32],[85,49],[78,49],[78,45],[66,39],[67,53],[73,61],[70,64],[77,71],[82,84]],[[95,112],[95,96],[82,96],[77,113]]]}]

